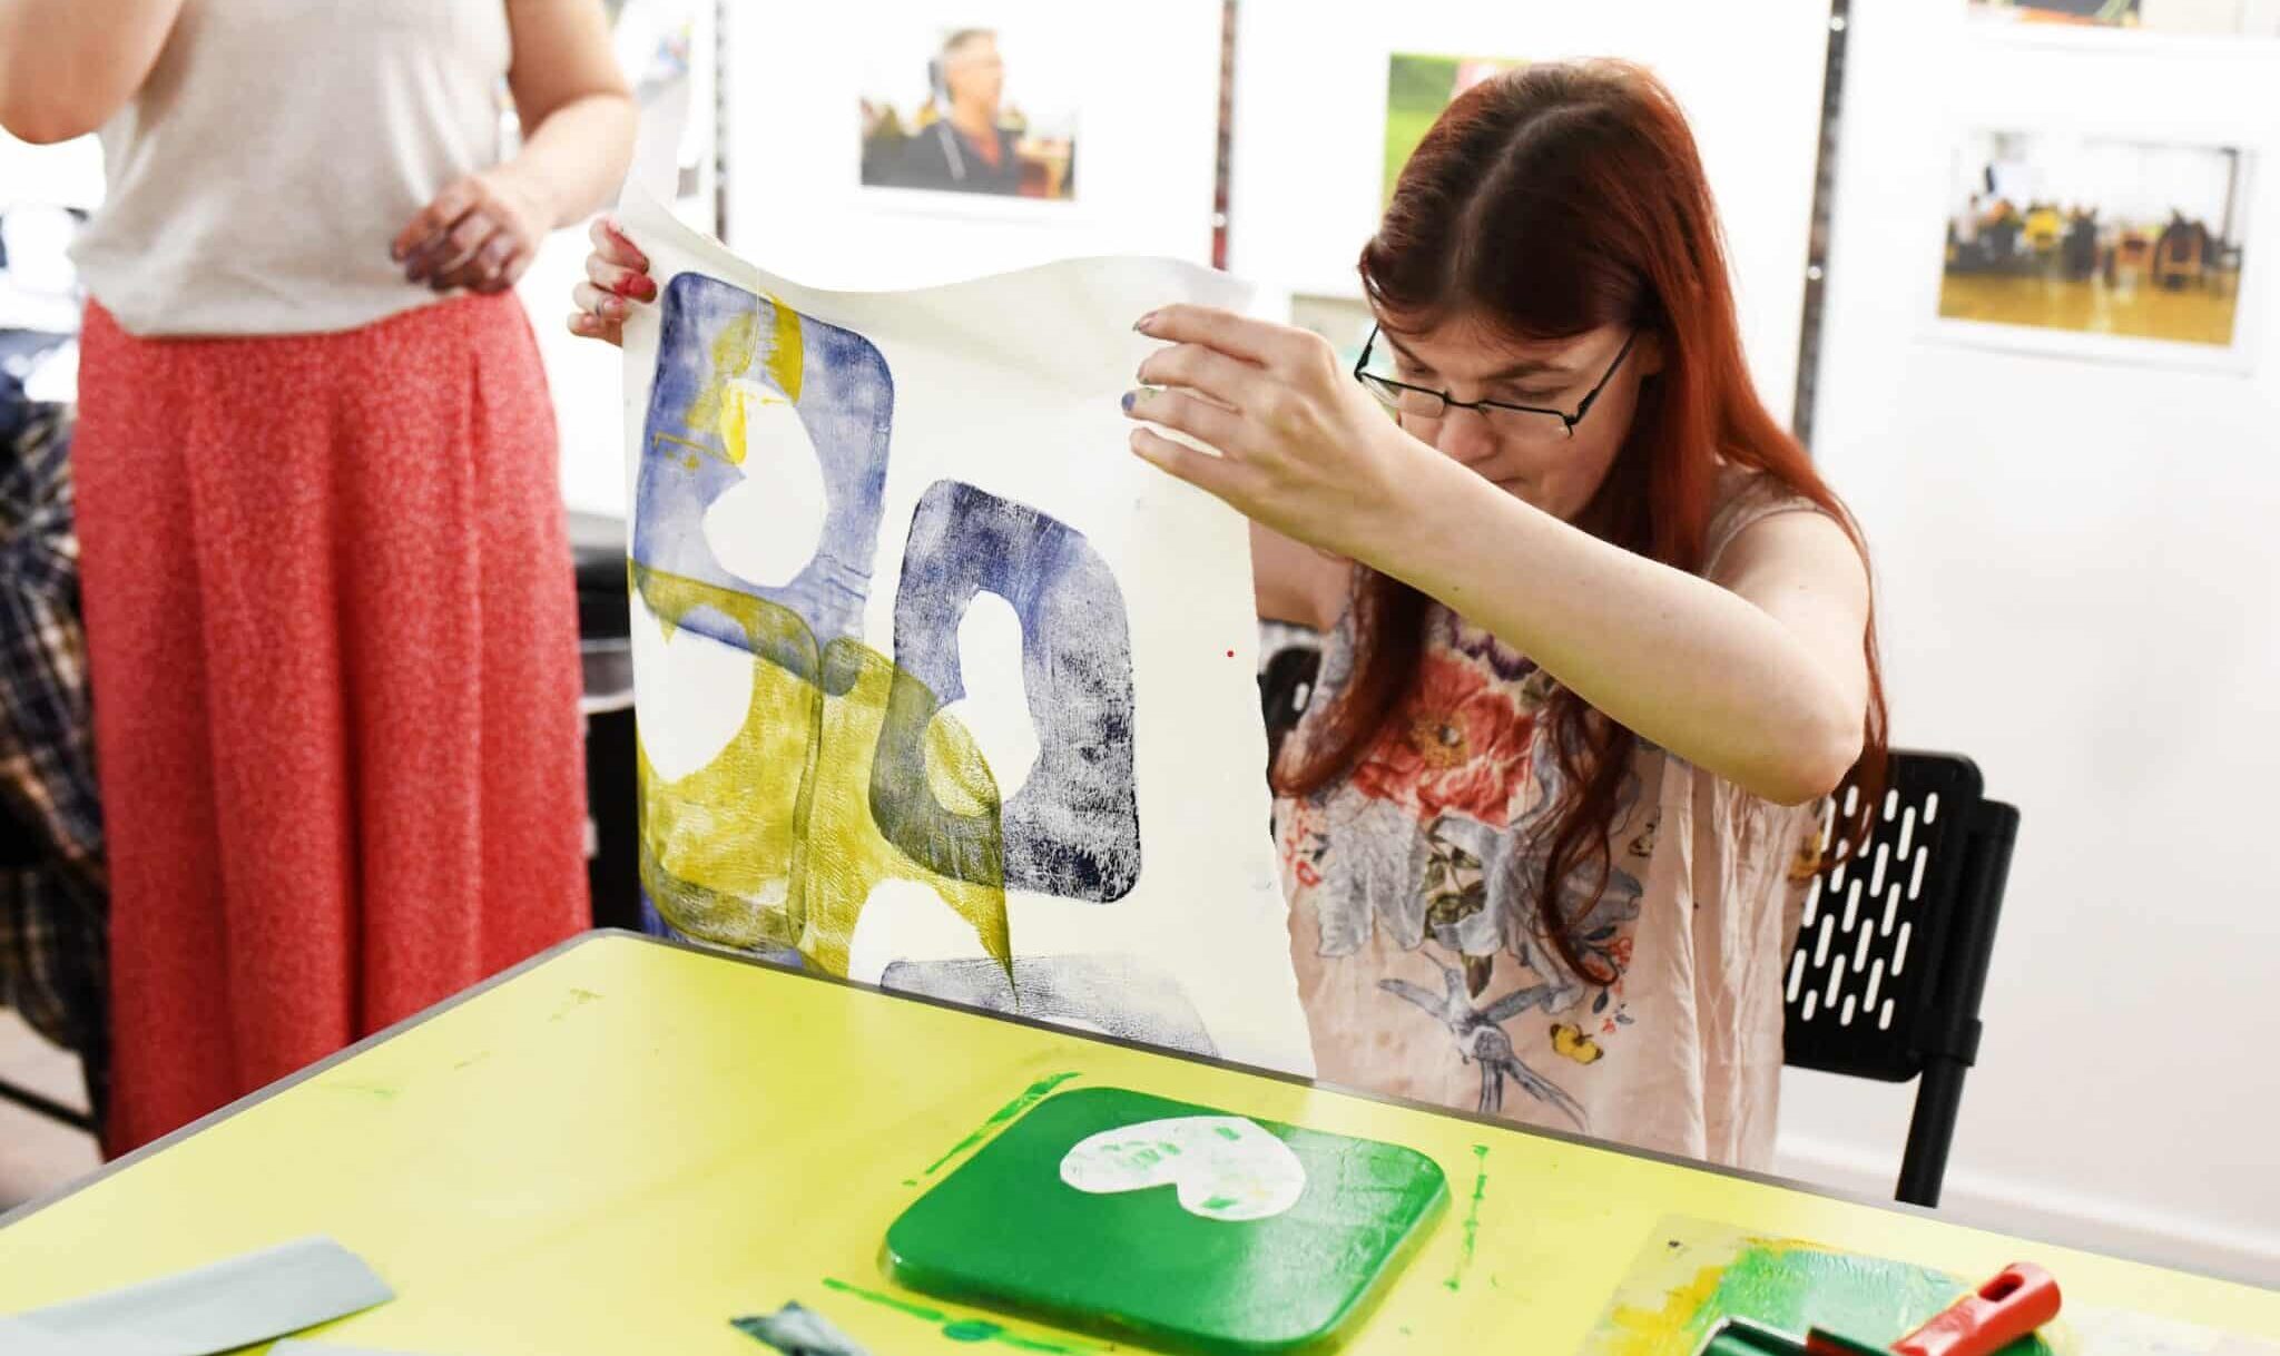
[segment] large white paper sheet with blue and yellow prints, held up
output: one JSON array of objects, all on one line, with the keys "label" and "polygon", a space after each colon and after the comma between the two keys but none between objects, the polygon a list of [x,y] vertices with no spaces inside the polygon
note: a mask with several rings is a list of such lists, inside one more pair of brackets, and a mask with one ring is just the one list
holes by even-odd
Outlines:
[{"label": "large white paper sheet with blue and yellow prints, held up", "polygon": [[643,887],[700,941],[1309,1073],[1245,522],[1126,451],[1170,301],[773,278],[629,194]]}]

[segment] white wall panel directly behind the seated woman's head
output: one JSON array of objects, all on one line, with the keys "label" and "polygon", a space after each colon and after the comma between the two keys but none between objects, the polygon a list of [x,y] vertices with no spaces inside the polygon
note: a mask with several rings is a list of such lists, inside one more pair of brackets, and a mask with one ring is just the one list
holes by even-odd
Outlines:
[{"label": "white wall panel directly behind the seated woman's head", "polygon": [[1240,16],[1229,269],[1286,292],[1361,294],[1354,258],[1377,228],[1391,52],[1628,57],[1653,66],[1694,123],[1751,371],[1788,419],[1826,0],[1760,0],[1746,18],[1701,0],[1245,0]]}]

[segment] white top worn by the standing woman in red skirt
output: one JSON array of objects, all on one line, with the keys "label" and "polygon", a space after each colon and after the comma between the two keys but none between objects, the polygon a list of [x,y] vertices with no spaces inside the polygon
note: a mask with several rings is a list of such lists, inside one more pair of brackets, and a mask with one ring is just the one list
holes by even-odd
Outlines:
[{"label": "white top worn by the standing woman in red skirt", "polygon": [[135,335],[349,330],[435,294],[388,258],[499,160],[504,0],[185,0],[103,128],[73,255]]}]

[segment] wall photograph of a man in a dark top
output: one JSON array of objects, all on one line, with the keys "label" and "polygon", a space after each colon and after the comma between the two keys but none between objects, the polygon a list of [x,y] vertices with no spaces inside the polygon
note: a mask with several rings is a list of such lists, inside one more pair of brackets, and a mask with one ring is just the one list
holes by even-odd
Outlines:
[{"label": "wall photograph of a man in a dark top", "polygon": [[1033,11],[1019,27],[889,25],[862,55],[866,189],[951,201],[1074,203],[1078,34]]}]

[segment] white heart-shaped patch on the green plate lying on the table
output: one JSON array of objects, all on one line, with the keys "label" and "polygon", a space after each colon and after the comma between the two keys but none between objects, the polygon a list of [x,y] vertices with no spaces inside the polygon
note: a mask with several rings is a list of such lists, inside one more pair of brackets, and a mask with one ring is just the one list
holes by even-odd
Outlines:
[{"label": "white heart-shaped patch on the green plate lying on the table", "polygon": [[1085,1137],[1060,1181],[1094,1196],[1170,1185],[1188,1215],[1238,1224],[1297,1206],[1306,1165],[1243,1117],[1172,1117]]}]

